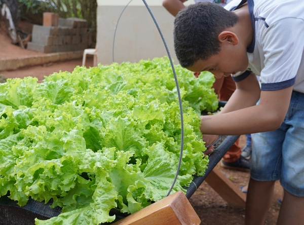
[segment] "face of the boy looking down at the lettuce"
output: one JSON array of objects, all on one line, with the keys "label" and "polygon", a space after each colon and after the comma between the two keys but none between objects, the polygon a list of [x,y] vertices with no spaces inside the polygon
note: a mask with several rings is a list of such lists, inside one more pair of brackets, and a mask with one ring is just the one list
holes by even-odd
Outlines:
[{"label": "face of the boy looking down at the lettuce", "polygon": [[210,71],[216,78],[228,77],[248,67],[246,51],[233,45],[222,45],[217,55],[207,60],[197,60],[192,66],[187,67],[193,72]]}]

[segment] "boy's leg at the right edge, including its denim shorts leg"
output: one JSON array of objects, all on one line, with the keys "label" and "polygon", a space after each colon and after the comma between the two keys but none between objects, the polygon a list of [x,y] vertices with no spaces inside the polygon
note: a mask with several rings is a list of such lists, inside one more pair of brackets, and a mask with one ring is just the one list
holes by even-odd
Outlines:
[{"label": "boy's leg at the right edge, including its denim shorts leg", "polygon": [[284,120],[289,126],[282,150],[280,183],[284,197],[278,224],[304,224],[304,94],[293,92]]}]

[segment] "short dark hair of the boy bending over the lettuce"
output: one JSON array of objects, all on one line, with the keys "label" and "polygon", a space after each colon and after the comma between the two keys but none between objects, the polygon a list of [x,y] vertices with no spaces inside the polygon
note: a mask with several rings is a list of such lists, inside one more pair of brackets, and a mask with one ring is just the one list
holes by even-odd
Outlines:
[{"label": "short dark hair of the boy bending over the lettuce", "polygon": [[174,49],[180,65],[187,68],[218,54],[218,34],[237,22],[235,13],[209,2],[182,9],[174,20]]}]

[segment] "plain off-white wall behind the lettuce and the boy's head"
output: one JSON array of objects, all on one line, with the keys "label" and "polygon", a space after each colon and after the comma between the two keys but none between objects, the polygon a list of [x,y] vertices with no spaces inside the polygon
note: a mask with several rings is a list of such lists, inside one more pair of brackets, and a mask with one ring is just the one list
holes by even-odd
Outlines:
[{"label": "plain off-white wall behind the lettuce and the boy's head", "polygon": [[[143,1],[133,0],[130,3],[130,0],[98,0],[97,2],[98,62],[102,64],[110,64],[113,61],[137,62],[141,59],[168,55],[161,35]],[[174,17],[162,6],[162,0],[146,0],[146,3],[159,24],[174,63],[177,64],[173,47]],[[187,1],[185,5],[192,3],[193,0]],[[112,60],[113,55],[114,60]]]}]

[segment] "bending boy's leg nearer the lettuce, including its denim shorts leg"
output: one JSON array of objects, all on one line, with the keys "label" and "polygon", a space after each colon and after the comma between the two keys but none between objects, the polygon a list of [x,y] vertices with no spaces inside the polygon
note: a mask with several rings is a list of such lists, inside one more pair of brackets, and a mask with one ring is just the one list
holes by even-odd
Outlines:
[{"label": "bending boy's leg nearer the lettuce, including its denim shorts leg", "polygon": [[245,224],[264,224],[271,205],[275,181],[280,179],[284,130],[254,133]]}]

